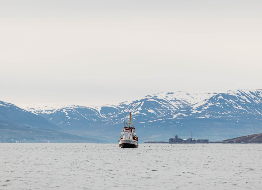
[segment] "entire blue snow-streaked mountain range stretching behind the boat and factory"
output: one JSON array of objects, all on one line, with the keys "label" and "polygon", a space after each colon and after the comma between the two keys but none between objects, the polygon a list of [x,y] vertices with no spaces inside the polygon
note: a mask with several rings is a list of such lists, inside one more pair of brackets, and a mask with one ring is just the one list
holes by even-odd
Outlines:
[{"label": "entire blue snow-streaked mountain range stretching behind the boat and factory", "polygon": [[216,141],[261,133],[261,94],[262,90],[179,91],[148,95],[130,103],[69,105],[54,112],[34,108],[33,112],[72,134],[103,136],[114,142],[131,109],[141,140],[167,140],[174,135],[187,138],[193,131],[195,138]]}]

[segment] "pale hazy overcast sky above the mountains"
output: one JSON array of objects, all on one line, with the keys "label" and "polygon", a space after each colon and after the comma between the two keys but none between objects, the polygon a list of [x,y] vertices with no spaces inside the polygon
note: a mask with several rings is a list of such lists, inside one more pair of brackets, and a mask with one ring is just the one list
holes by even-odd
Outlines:
[{"label": "pale hazy overcast sky above the mountains", "polygon": [[262,1],[0,1],[0,100],[262,88]]}]

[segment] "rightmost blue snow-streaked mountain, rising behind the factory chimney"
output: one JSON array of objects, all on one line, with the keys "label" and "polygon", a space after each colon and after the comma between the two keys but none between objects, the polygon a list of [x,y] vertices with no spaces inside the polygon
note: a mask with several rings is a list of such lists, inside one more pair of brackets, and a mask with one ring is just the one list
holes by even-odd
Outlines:
[{"label": "rightmost blue snow-streaked mountain, rising behind the factory chimney", "polygon": [[[170,131],[219,140],[262,131],[262,90],[230,90],[181,110],[140,122],[144,130]],[[221,139],[222,140],[222,139]]]}]

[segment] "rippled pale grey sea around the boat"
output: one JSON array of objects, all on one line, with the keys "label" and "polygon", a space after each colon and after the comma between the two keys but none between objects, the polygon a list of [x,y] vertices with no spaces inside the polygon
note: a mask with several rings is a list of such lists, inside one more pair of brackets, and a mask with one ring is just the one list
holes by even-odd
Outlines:
[{"label": "rippled pale grey sea around the boat", "polygon": [[0,189],[262,189],[262,144],[0,143]]}]

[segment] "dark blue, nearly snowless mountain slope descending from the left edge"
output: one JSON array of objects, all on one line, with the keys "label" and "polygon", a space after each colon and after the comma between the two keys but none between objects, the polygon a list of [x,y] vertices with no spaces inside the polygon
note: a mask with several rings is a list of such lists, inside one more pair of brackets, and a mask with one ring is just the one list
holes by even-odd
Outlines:
[{"label": "dark blue, nearly snowless mountain slope descending from the left edge", "polygon": [[0,101],[1,142],[92,142],[93,140],[95,139],[64,133],[63,129],[45,118],[11,103]]}]

